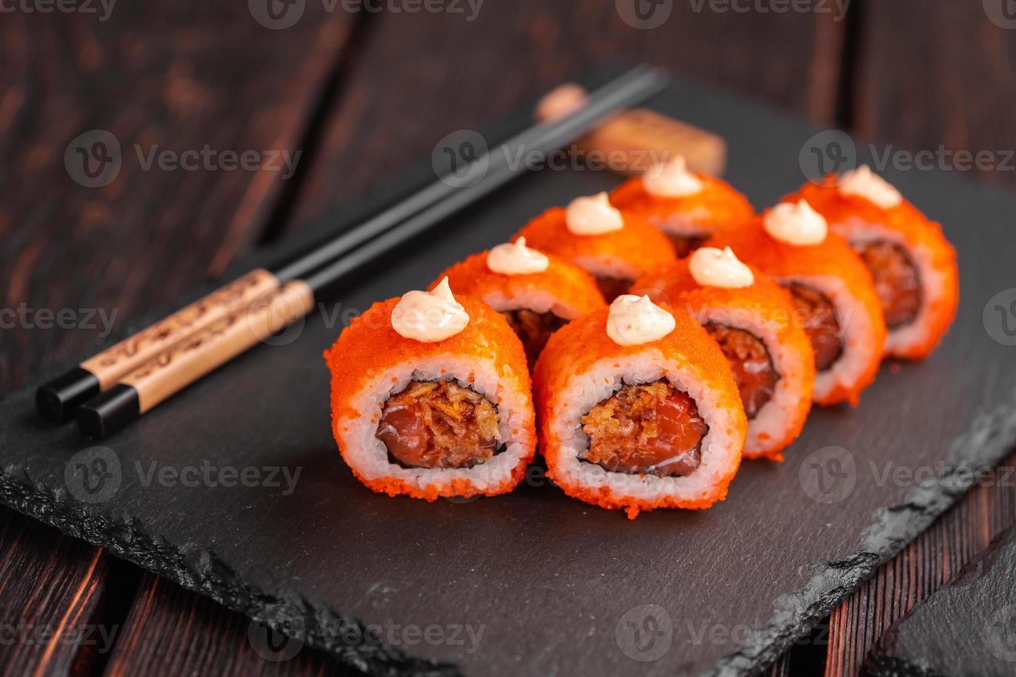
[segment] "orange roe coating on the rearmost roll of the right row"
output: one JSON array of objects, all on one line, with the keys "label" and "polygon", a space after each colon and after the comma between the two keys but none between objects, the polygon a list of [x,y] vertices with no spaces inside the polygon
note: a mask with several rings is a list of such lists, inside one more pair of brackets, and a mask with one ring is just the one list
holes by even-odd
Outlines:
[{"label": "orange roe coating on the rearmost roll of the right row", "polygon": [[942,225],[930,220],[916,207],[901,201],[895,207],[883,209],[870,200],[855,195],[842,195],[836,186],[835,177],[827,177],[821,184],[807,183],[788,200],[807,200],[815,211],[822,214],[829,226],[837,226],[850,218],[882,224],[902,235],[907,249],[924,250],[931,254],[932,267],[943,275],[941,297],[928,307],[930,331],[924,341],[910,345],[906,350],[894,350],[893,357],[903,359],[924,359],[939,344],[956,317],[959,303],[959,270],[956,267],[956,250],[942,233]]}]

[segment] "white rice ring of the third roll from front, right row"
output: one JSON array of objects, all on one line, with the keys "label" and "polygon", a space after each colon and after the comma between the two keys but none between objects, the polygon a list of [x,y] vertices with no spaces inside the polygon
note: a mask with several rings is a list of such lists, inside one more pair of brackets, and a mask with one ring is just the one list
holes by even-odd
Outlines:
[{"label": "white rice ring of the third roll from front, right row", "polygon": [[836,275],[787,275],[776,278],[782,284],[795,282],[823,294],[832,303],[839,322],[843,353],[829,368],[815,375],[814,399],[827,396],[837,385],[853,388],[880,348],[873,345],[872,319],[846,282]]}]

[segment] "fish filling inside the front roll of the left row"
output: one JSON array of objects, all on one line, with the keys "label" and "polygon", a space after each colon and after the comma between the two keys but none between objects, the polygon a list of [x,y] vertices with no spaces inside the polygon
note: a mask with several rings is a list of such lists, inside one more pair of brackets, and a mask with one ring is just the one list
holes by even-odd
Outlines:
[{"label": "fish filling inside the front roll of the left row", "polygon": [[410,468],[471,468],[498,451],[499,416],[490,400],[446,381],[412,381],[384,403],[377,438]]}]

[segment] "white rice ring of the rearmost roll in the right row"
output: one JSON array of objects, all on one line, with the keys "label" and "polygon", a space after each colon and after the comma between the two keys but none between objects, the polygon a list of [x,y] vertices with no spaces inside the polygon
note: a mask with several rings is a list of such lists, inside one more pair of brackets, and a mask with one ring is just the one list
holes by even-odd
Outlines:
[{"label": "white rice ring of the rearmost roll in the right row", "polygon": [[947,288],[946,276],[933,265],[933,255],[928,248],[918,245],[911,247],[898,230],[887,227],[884,223],[870,223],[856,216],[839,223],[831,223],[830,227],[853,243],[870,243],[884,241],[899,246],[910,257],[917,269],[917,279],[920,282],[920,308],[912,322],[896,329],[890,329],[886,334],[885,349],[887,352],[904,352],[914,344],[923,343],[932,332],[931,308],[943,300],[944,289]]}]

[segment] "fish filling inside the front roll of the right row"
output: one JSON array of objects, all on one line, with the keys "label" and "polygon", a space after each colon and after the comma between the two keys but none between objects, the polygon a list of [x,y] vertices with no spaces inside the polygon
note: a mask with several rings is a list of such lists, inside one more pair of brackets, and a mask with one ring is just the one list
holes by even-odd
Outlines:
[{"label": "fish filling inside the front roll of the right row", "polygon": [[709,426],[687,393],[668,381],[625,386],[582,417],[582,460],[611,472],[681,476],[702,462]]}]

